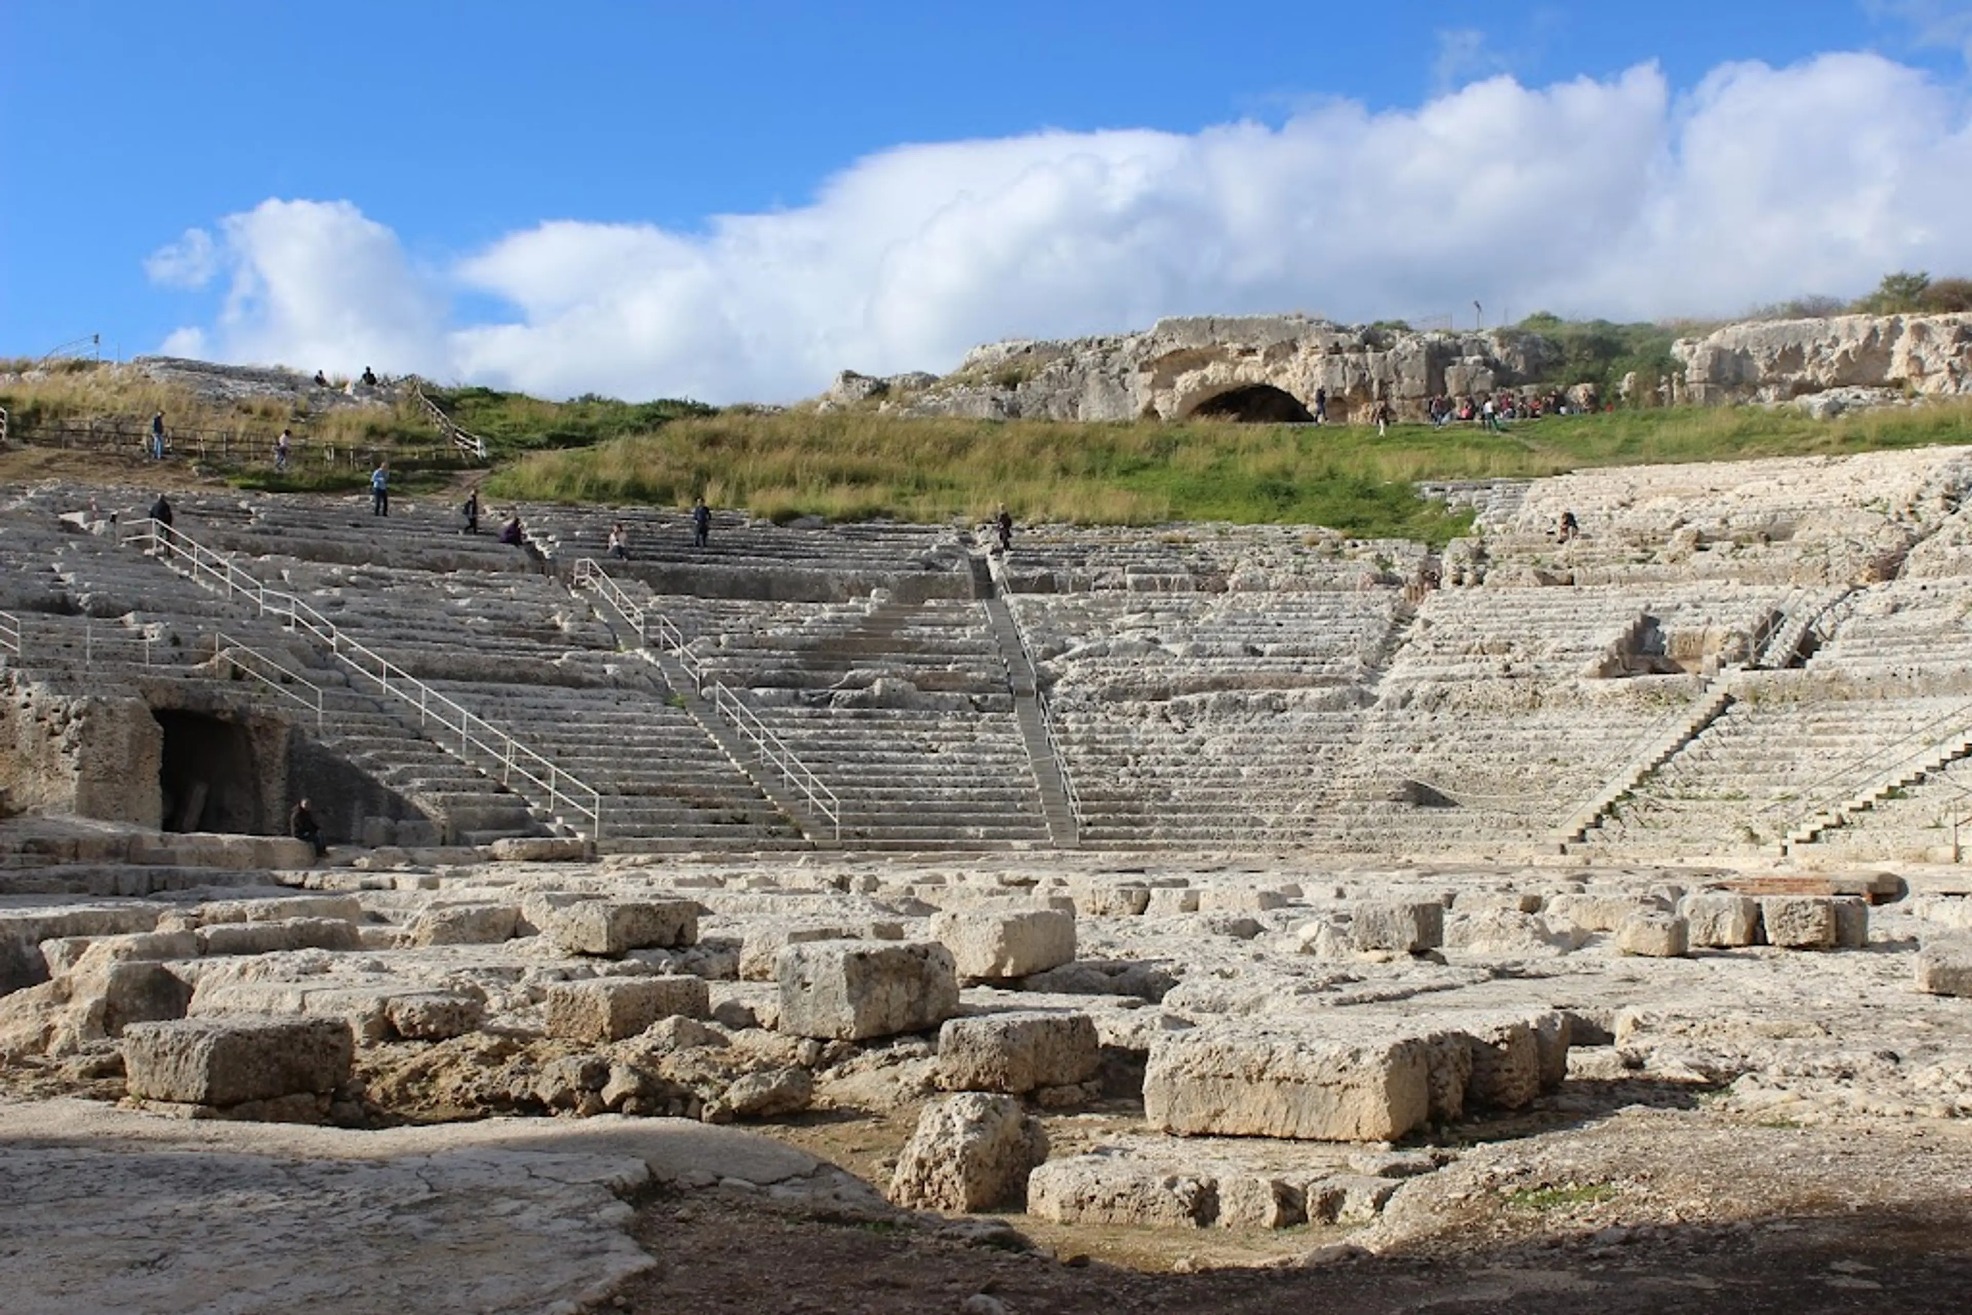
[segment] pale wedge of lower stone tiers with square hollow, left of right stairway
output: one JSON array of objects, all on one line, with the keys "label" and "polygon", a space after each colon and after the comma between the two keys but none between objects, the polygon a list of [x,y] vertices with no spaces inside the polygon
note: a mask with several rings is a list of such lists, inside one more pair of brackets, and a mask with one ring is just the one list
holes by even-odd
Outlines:
[{"label": "pale wedge of lower stone tiers with square hollow, left of right stairway", "polygon": [[[1702,672],[1743,657],[1785,597],[1739,586],[1430,593],[1335,771],[1319,844],[1552,850],[1576,806],[1684,716]],[[1641,651],[1653,629],[1666,653]],[[1664,674],[1643,674],[1653,668]]]}]

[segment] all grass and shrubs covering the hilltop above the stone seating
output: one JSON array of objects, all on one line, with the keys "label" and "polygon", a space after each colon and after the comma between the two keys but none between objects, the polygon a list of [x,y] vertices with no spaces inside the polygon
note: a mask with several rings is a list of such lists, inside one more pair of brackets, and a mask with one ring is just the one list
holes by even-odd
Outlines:
[{"label": "all grass and shrubs covering the hilltop above the stone seating", "polygon": [[[1968,280],[1891,274],[1858,304],[1802,298],[1769,311],[1960,304],[1972,306]],[[1505,333],[1540,333],[1560,347],[1554,384],[1589,382],[1615,396],[1621,379],[1635,373],[1643,384],[1635,396],[1647,402],[1656,379],[1676,365],[1670,343],[1706,327],[1536,313]],[[16,371],[22,365],[32,363],[12,363]],[[0,363],[0,375],[6,367]],[[781,520],[984,519],[1004,501],[1023,520],[1327,524],[1357,536],[1428,542],[1461,532],[1467,519],[1420,501],[1416,481],[1972,442],[1972,402],[1834,422],[1787,408],[1637,406],[1511,424],[1501,434],[1469,424],[1394,424],[1378,438],[1367,426],[897,418],[880,414],[874,402],[781,412],[594,394],[546,402],[481,386],[426,392],[454,422],[487,440],[487,493],[501,499],[686,505],[704,495]],[[465,465],[410,394],[317,412],[308,408],[306,390],[211,402],[128,369],[69,361],[41,363],[30,379],[0,379],[0,406],[16,438],[30,440],[63,426],[110,426],[134,436],[154,410],[164,410],[174,434],[235,440],[225,459],[211,457],[217,448],[209,444],[203,467],[241,487],[355,487],[375,455],[390,455],[412,487]],[[282,426],[296,432],[298,459],[288,475],[274,475],[268,451]],[[116,448],[118,459],[134,459],[134,451],[136,442],[128,451]]]}]

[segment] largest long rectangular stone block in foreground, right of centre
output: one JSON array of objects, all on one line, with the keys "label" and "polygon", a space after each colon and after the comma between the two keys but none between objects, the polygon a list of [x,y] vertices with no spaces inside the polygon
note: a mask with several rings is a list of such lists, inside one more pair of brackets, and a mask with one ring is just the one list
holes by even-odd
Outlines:
[{"label": "largest long rectangular stone block in foreground, right of centre", "polygon": [[1144,1074],[1150,1126],[1187,1136],[1394,1142],[1432,1096],[1428,1041],[1367,1027],[1209,1023],[1160,1037]]}]

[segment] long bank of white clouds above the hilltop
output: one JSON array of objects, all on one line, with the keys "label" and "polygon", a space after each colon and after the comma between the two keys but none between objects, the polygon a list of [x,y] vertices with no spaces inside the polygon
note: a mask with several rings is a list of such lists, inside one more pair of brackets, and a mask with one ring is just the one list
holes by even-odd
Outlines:
[{"label": "long bank of white clouds above the hilltop", "polygon": [[[732,402],[1181,313],[1735,313],[1972,272],[1968,209],[1964,99],[1838,53],[1724,65],[1676,97],[1643,65],[1280,126],[899,146],[801,209],[692,235],[554,221],[440,266],[351,201],[270,199],[146,268],[225,280],[174,351]],[[499,311],[461,321],[461,302]]]}]

